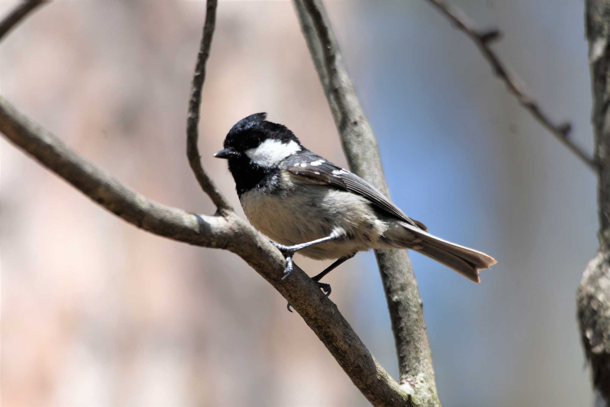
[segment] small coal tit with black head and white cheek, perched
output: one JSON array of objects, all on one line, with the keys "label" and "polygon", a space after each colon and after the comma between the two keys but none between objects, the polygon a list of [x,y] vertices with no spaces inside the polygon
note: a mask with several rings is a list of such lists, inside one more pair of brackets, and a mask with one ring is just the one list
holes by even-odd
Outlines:
[{"label": "small coal tit with black head and white cheek, perched", "polygon": [[338,259],[319,280],[358,251],[408,248],[479,283],[479,270],[496,261],[487,254],[439,239],[405,215],[364,179],[301,145],[282,124],[255,113],[235,124],[214,154],[227,159],[243,212],[274,240],[292,270],[292,254]]}]

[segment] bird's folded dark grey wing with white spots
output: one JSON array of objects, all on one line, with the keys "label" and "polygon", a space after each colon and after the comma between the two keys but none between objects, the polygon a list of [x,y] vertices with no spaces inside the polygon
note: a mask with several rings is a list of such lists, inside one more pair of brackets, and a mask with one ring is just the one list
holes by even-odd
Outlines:
[{"label": "bird's folded dark grey wing with white spots", "polygon": [[284,168],[290,175],[304,182],[318,185],[330,185],[364,196],[379,209],[397,217],[410,225],[428,230],[423,223],[409,218],[398,207],[390,202],[381,192],[364,179],[348,170],[339,168],[315,153],[296,154],[284,161]]}]

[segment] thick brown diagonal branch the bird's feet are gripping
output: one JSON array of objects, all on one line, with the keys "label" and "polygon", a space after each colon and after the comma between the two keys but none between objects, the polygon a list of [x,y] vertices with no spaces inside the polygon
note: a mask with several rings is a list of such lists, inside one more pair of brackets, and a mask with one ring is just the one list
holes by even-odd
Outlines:
[{"label": "thick brown diagonal branch the bird's feet are gripping", "polygon": [[[208,12],[209,10],[208,8]],[[208,21],[212,21],[212,25],[208,25]],[[2,24],[3,22],[0,22],[0,26]],[[206,17],[206,27],[213,29],[213,17]],[[209,52],[209,41],[212,37],[206,29],[202,43],[206,41],[205,38],[209,39],[202,49]],[[206,57],[199,58],[198,61],[204,62],[205,59]],[[201,74],[202,70],[198,71]],[[201,84],[203,79],[198,86]],[[222,248],[238,254],[290,302],[373,405],[422,405],[379,366],[340,314],[337,306],[328,298],[321,301],[323,293],[303,270],[295,264],[290,278],[280,281],[284,275],[284,256],[265,236],[237,217],[230,207],[224,206],[223,201],[218,199],[220,194],[212,193],[210,197],[218,204],[220,212],[224,212],[222,216],[189,214],[182,209],[149,200],[76,154],[51,132],[19,112],[2,96],[0,132],[40,164],[126,222],[169,239],[202,247]],[[203,168],[201,169],[203,173]],[[206,186],[202,187],[204,190],[207,188],[208,192],[212,190],[213,183],[205,173],[203,175]]]}]

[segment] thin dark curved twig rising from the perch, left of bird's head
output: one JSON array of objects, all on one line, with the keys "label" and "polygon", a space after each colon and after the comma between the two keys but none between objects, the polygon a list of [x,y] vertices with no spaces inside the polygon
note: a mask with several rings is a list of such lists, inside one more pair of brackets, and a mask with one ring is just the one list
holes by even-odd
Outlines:
[{"label": "thin dark curved twig rising from the perch, left of bird's head", "polygon": [[217,0],[208,0],[206,7],[206,23],[203,26],[203,36],[199,45],[197,54],[197,62],[195,64],[195,74],[191,86],[191,96],[188,100],[188,117],[187,117],[187,157],[188,163],[195,173],[195,177],[201,185],[201,189],[210,196],[212,202],[218,207],[221,214],[232,212],[233,208],[229,201],[220,192],[212,178],[210,178],[201,165],[201,154],[199,154],[199,109],[201,108],[201,88],[206,79],[206,62],[210,56],[210,46],[212,46],[212,37],[214,35],[214,27],[216,24],[216,6]]}]

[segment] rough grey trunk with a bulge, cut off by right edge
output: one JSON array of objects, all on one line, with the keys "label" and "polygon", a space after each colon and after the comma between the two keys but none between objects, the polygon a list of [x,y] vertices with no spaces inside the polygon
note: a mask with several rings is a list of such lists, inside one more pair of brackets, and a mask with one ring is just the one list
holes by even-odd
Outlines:
[{"label": "rough grey trunk with a bulge, cut off by right edge", "polygon": [[577,319],[592,381],[610,406],[610,0],[587,0],[586,35],[593,90],[592,123],[598,167],[600,247],[576,292]]}]

